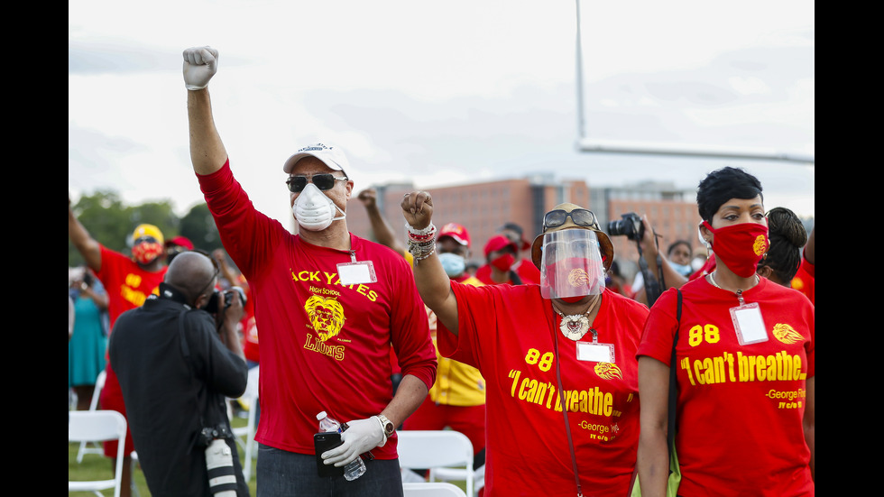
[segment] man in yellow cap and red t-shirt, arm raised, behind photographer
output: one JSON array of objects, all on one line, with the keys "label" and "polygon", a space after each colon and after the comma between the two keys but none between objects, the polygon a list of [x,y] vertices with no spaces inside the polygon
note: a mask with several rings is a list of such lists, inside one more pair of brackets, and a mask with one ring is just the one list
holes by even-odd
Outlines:
[{"label": "man in yellow cap and red t-shirt, arm raised, behind photographer", "polygon": [[[96,273],[107,290],[108,314],[113,332],[116,318],[125,311],[141,307],[144,300],[157,293],[157,288],[166,274],[168,266],[163,264],[165,247],[160,229],[155,225],[138,225],[132,235],[132,257],[108,249],[89,235],[70,208],[68,198],[68,237],[83,256],[87,266]],[[116,410],[125,416],[123,392],[117,382],[112,364],[108,358],[106,365],[105,388],[100,394],[101,409]],[[105,442],[105,456],[115,464],[116,442]],[[131,492],[132,464],[134,451],[132,434],[127,431],[125,459],[123,462],[123,483],[120,494],[124,497]]]}]

